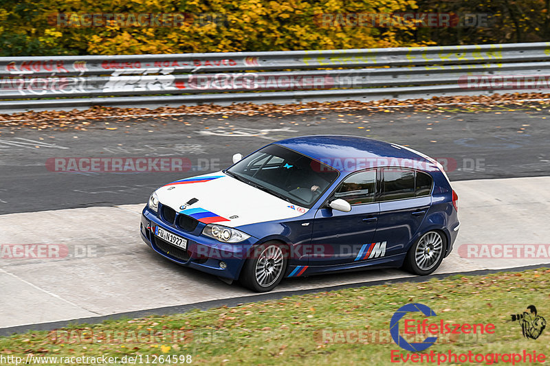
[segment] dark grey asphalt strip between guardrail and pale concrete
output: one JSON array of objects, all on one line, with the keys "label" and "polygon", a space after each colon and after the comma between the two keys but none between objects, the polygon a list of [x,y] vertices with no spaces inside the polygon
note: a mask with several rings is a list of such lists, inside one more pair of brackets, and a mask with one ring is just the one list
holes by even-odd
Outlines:
[{"label": "dark grey asphalt strip between guardrail and pale concrete", "polygon": [[[272,141],[300,135],[360,135],[408,145],[449,161],[452,181],[548,176],[547,116],[550,113],[544,109],[483,114],[380,111],[373,116],[356,111],[285,117],[214,115],[135,124],[109,120],[109,124],[92,122],[86,131],[4,129],[0,130],[0,214],[141,203],[168,181],[227,167],[235,152],[246,155]],[[47,159],[59,157],[183,157],[195,171],[48,170]]]}]

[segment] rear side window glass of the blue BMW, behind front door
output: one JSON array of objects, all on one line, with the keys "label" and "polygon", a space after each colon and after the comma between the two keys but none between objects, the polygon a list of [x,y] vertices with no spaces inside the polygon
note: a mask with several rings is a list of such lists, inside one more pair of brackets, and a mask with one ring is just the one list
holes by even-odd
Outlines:
[{"label": "rear side window glass of the blue BMW, behind front door", "polygon": [[380,201],[428,196],[432,192],[432,177],[408,169],[384,169]]}]

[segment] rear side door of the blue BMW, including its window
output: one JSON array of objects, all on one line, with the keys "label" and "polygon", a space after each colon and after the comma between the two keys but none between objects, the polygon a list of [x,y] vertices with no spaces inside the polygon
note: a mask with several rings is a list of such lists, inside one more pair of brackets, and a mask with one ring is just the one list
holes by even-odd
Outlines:
[{"label": "rear side door of the blue BMW, including its window", "polygon": [[380,213],[374,242],[380,256],[403,253],[421,227],[432,203],[432,177],[425,172],[401,168],[379,170]]}]

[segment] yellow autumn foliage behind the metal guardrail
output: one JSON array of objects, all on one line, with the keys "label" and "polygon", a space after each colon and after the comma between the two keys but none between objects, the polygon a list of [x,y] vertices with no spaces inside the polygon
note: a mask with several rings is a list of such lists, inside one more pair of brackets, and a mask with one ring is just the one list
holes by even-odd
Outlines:
[{"label": "yellow autumn foliage behind the metal guardrail", "polygon": [[[32,6],[32,0],[23,0]],[[162,54],[186,52],[247,52],[296,49],[346,49],[417,45],[394,28],[322,26],[316,14],[404,12],[416,0],[36,0],[41,12],[25,22],[19,34],[32,34],[50,49],[67,54]],[[7,10],[8,12],[10,10]],[[16,12],[15,8],[12,10]],[[102,27],[55,27],[57,14],[185,14],[170,27],[127,27],[111,21]],[[17,15],[17,14],[16,14]],[[0,18],[4,11],[0,10]],[[53,20],[52,20],[53,19]],[[69,16],[67,16],[69,19]],[[126,25],[132,25],[128,19]],[[21,20],[22,21],[22,20]],[[135,24],[133,24],[135,25]],[[53,47],[56,46],[56,47]]]}]

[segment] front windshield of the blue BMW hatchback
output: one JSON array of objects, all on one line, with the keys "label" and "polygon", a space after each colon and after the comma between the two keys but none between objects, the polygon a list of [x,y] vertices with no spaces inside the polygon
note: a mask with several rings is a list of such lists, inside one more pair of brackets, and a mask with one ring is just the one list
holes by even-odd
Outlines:
[{"label": "front windshield of the blue BMW hatchback", "polygon": [[307,208],[338,178],[338,170],[276,144],[245,157],[225,173]]}]

